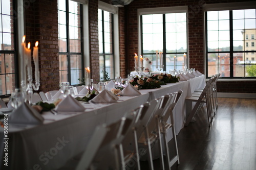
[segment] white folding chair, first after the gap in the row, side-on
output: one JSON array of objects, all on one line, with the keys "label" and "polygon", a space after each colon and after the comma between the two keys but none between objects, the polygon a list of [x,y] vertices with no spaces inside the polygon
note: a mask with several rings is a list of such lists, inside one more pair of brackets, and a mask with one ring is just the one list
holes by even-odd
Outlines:
[{"label": "white folding chair, first after the gap in the row, side-on", "polygon": [[191,119],[194,117],[194,115],[198,112],[198,110],[203,106],[204,103],[206,103],[206,108],[207,108],[207,114],[208,114],[208,123],[209,126],[211,126],[211,113],[210,113],[210,99],[209,99],[209,88],[211,87],[211,83],[212,83],[213,79],[209,79],[207,84],[204,87],[204,90],[202,91],[202,93],[200,94],[199,97],[194,97],[194,96],[190,96],[187,97],[185,99],[185,102],[196,102],[195,106],[193,107],[193,110],[189,113],[187,119],[186,119],[186,123],[185,126],[187,126]]}]

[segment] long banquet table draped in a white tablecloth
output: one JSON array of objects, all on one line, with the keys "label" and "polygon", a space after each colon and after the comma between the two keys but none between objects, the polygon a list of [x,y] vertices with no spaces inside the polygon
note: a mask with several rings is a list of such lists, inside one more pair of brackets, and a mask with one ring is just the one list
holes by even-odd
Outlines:
[{"label": "long banquet table draped in a white tablecloth", "polygon": [[[96,126],[109,125],[147,101],[166,93],[183,90],[174,113],[176,134],[183,128],[186,119],[186,96],[205,85],[204,76],[188,81],[167,84],[158,89],[140,90],[139,96],[121,96],[117,103],[85,104],[81,113],[53,115],[45,112],[42,125],[11,125],[8,127],[8,167],[1,161],[1,169],[57,169],[67,160],[82,152]],[[4,129],[0,128],[0,153],[4,156]],[[168,137],[169,139],[172,136]]]}]

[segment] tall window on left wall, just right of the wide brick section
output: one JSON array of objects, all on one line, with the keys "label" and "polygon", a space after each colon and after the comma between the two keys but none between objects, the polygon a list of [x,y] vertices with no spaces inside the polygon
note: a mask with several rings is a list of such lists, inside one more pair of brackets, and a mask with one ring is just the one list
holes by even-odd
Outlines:
[{"label": "tall window on left wall, just right of the wide brick section", "polygon": [[82,5],[58,0],[59,78],[60,82],[79,84],[83,78]]}]

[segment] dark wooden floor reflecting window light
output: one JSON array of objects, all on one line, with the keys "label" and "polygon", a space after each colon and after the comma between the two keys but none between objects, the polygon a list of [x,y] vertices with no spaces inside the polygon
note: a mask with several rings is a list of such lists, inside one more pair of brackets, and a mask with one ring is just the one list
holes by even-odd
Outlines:
[{"label": "dark wooden floor reflecting window light", "polygon": [[[195,118],[177,135],[180,164],[172,169],[256,169],[256,99],[219,98],[211,127],[205,107]],[[148,169],[146,161],[141,166]]]}]

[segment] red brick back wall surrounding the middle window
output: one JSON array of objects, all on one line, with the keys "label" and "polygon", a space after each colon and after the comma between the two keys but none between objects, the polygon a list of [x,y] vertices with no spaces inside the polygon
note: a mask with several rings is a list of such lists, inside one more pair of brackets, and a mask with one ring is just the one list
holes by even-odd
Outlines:
[{"label": "red brick back wall surrounding the middle window", "polygon": [[[252,0],[248,0],[252,1]],[[200,72],[204,72],[204,20],[202,5],[214,3],[233,3],[244,2],[242,0],[230,1],[214,1],[214,0],[136,0],[127,6],[127,53],[128,57],[128,71],[134,70],[134,53],[138,53],[138,16],[137,9],[139,8],[156,8],[156,7],[174,7],[174,6],[188,6],[188,54],[189,66],[195,67]],[[256,93],[255,82],[218,82],[219,92],[246,92]],[[226,88],[228,87],[228,88]],[[239,90],[238,90],[239,89]]]}]

